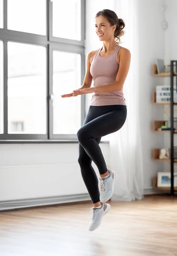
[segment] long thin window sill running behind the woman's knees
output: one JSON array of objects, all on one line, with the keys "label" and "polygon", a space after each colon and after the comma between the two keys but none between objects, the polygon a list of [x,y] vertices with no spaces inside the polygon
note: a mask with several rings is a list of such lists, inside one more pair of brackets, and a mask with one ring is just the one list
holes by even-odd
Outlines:
[{"label": "long thin window sill running behind the woman's knees", "polygon": [[[50,143],[78,143],[78,140],[0,140],[0,144],[50,144]],[[101,141],[100,143],[109,143]]]}]

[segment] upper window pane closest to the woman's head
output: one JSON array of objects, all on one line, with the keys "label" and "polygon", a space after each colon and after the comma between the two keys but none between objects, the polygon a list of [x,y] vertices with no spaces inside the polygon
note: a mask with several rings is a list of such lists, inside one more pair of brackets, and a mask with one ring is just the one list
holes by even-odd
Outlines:
[{"label": "upper window pane closest to the woman's head", "polygon": [[53,0],[53,36],[81,40],[80,2],[80,0]]}]

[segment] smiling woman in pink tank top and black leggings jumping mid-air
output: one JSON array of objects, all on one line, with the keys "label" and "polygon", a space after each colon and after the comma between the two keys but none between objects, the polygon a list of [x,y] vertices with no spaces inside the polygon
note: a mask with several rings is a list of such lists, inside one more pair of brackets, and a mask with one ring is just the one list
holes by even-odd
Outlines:
[{"label": "smiling woman in pink tank top and black leggings jumping mid-air", "polygon": [[[101,137],[120,130],[126,122],[127,109],[123,84],[131,60],[130,51],[119,45],[125,23],[115,12],[107,9],[98,12],[95,27],[103,47],[88,53],[83,85],[69,94],[62,95],[66,98],[93,93],[86,119],[77,132],[78,162],[93,202],[92,218],[88,228],[90,231],[99,227],[103,215],[111,208],[106,201],[113,195],[117,174],[108,170],[99,143]],[[100,186],[91,166],[92,161],[100,173]]]}]

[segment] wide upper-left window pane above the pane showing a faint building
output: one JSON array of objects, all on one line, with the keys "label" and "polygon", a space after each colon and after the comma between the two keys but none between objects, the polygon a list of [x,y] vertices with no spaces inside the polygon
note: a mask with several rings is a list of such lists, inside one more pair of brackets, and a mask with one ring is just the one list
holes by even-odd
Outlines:
[{"label": "wide upper-left window pane above the pane showing a faint building", "polygon": [[8,0],[8,29],[46,35],[46,0]]}]

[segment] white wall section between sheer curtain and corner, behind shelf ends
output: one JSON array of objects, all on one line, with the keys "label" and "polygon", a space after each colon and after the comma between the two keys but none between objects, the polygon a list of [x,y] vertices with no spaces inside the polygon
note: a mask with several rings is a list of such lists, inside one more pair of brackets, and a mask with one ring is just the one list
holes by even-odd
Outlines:
[{"label": "white wall section between sheer curtain and corner, behind shelf ends", "polygon": [[[161,28],[162,1],[139,1],[139,79],[140,89],[140,119],[143,134],[143,165],[144,189],[152,186],[152,177],[163,168],[163,163],[152,160],[153,148],[163,147],[163,135],[152,132],[152,121],[163,119],[163,108],[152,104],[152,92],[156,85],[163,84],[163,79],[152,76],[152,64],[155,58],[164,58],[165,40]],[[136,35],[135,35],[136,36]]]}]

